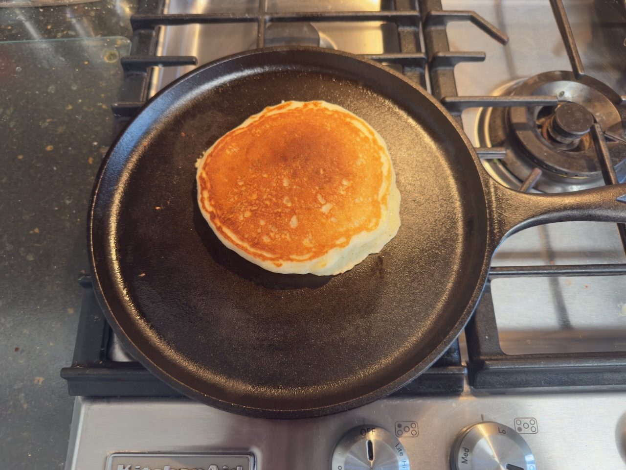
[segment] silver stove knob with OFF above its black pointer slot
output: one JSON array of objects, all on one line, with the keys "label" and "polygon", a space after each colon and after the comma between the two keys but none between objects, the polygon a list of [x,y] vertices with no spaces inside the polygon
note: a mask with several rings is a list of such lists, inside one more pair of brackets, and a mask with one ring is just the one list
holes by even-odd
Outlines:
[{"label": "silver stove knob with OFF above its black pointer slot", "polygon": [[332,452],[331,470],[409,470],[409,457],[396,436],[366,424],[346,432]]}]

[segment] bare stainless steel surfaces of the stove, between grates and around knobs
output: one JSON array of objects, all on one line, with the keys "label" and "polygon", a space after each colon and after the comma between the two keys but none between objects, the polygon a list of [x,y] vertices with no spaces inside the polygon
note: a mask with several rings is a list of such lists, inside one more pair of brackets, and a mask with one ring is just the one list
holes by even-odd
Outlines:
[{"label": "bare stainless steel surfaces of the stove, between grates and around knobs", "polygon": [[[456,66],[459,95],[493,95],[541,72],[570,70],[548,0],[442,3],[448,10],[476,11],[510,38],[502,46],[473,24],[448,25],[451,50],[486,52],[481,63]],[[258,4],[172,1],[167,11],[254,13]],[[587,74],[625,95],[626,24],[618,3],[572,0],[565,6]],[[267,2],[269,11],[387,8],[379,1]],[[381,21],[291,24],[269,29],[266,41],[294,36],[300,43],[319,41],[352,53],[399,51],[396,26]],[[254,48],[256,39],[254,22],[167,26],[159,34],[158,55],[193,55],[202,64]],[[155,68],[150,94],[192,68]],[[479,113],[463,113],[464,130],[477,146],[483,145]],[[563,222],[515,234],[493,264],[625,262],[614,224]],[[505,353],[626,351],[624,276],[507,277],[493,279],[491,294]],[[111,344],[111,358],[131,360],[115,340]],[[392,397],[329,417],[280,421],[229,414],[187,399],[79,397],[66,469],[392,469],[408,468],[407,460],[414,469],[430,470],[619,469],[626,467],[626,391],[610,388],[505,395],[481,394],[466,385],[461,395]],[[496,424],[468,429],[480,422]],[[357,431],[350,443],[336,448],[352,428]],[[333,457],[334,451],[339,455]],[[163,453],[177,455],[156,455]],[[383,456],[386,466],[379,465]]]}]

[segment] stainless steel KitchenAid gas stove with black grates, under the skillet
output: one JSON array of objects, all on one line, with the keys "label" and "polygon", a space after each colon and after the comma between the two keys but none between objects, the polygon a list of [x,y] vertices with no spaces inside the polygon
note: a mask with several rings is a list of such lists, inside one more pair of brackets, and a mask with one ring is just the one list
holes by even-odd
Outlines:
[{"label": "stainless steel KitchenAid gas stove with black grates, under the skillet", "polygon": [[[322,46],[428,86],[502,184],[566,192],[622,182],[626,5],[565,7],[142,0],[113,111],[121,129],[163,86],[231,53]],[[121,346],[86,274],[73,364],[61,372],[76,395],[66,469],[623,468],[625,234],[561,222],[511,236],[465,332],[433,367],[386,399],[315,419],[255,419],[182,397]]]}]

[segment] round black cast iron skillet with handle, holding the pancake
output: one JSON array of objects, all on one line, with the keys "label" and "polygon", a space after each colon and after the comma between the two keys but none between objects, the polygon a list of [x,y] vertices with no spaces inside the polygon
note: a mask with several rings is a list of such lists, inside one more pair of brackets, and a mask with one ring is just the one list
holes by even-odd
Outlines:
[{"label": "round black cast iron skillet with handle, holding the pancake", "polygon": [[[264,107],[319,99],[386,140],[402,226],[339,276],[269,273],[215,238],[198,210],[194,164]],[[483,172],[448,112],[402,75],[346,53],[268,48],[192,71],[128,125],[93,191],[91,268],[113,330],[160,379],[242,414],[323,415],[429,367],[473,312],[507,234],[570,219],[626,222],[624,186],[510,191]]]}]

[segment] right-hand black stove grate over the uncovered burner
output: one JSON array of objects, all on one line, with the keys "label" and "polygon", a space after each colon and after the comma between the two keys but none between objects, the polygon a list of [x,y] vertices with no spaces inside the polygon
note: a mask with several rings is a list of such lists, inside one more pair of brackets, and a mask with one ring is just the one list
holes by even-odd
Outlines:
[{"label": "right-hand black stove grate over the uncovered burner", "polygon": [[[568,58],[576,78],[585,75],[582,61],[570,28],[562,0],[550,0],[555,21],[563,38]],[[428,52],[429,78],[433,95],[461,122],[466,108],[510,107],[558,104],[557,97],[459,97],[454,80],[454,65],[458,61],[484,60],[481,52],[454,53],[453,61],[438,60],[449,54],[446,24],[449,21],[471,21],[494,39],[506,44],[508,38],[485,19],[472,11],[443,11],[441,0],[419,0],[423,14],[424,44]],[[598,161],[605,184],[618,182],[608,155],[602,129],[591,129]],[[505,149],[476,149],[481,158],[500,158]],[[530,191],[541,176],[537,169],[522,182],[520,190]],[[626,229],[617,224],[626,253]],[[625,276],[626,264],[582,264],[568,266],[498,266],[490,269],[485,293],[465,328],[468,346],[469,384],[481,390],[520,390],[543,387],[607,387],[626,386],[626,352],[551,353],[508,355],[502,351],[498,326],[491,298],[491,279],[528,276]]]}]

